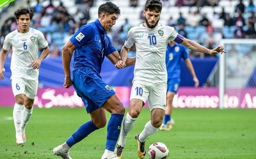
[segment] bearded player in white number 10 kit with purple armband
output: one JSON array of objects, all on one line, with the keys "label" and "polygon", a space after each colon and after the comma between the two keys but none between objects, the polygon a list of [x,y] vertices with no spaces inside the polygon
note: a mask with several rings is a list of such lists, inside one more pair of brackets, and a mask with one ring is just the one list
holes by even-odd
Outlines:
[{"label": "bearded player in white number 10 kit with purple armband", "polygon": [[224,51],[223,46],[212,50],[198,43],[188,40],[171,26],[158,24],[162,11],[160,0],[147,0],[143,13],[145,23],[132,27],[121,49],[121,61],[115,66],[126,62],[128,51],[135,43],[136,63],[134,68],[133,86],[130,95],[130,109],[123,120],[123,127],[115,153],[121,159],[126,137],[134,126],[134,122],[148,100],[151,120],[147,122],[141,133],[135,136],[138,143],[137,153],[140,158],[145,157],[145,139],[153,135],[161,126],[166,108],[167,71],[165,54],[168,40],[181,43],[187,48],[210,55]]}]

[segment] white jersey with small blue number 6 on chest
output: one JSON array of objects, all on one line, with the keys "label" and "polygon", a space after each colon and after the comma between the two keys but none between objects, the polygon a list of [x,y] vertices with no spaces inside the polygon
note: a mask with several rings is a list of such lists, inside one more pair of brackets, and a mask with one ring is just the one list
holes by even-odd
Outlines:
[{"label": "white jersey with small blue number 6 on chest", "polygon": [[9,50],[12,46],[12,59],[10,69],[11,79],[15,77],[31,80],[38,79],[39,70],[32,68],[32,61],[38,58],[38,46],[45,48],[48,42],[39,30],[29,28],[26,33],[15,30],[5,37],[3,49]]}]

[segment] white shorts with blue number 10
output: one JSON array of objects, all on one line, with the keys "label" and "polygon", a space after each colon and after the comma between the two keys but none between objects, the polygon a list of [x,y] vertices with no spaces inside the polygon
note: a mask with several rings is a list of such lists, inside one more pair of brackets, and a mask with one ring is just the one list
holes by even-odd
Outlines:
[{"label": "white shorts with blue number 10", "polygon": [[167,83],[151,83],[135,80],[131,87],[130,101],[140,99],[144,103],[148,100],[149,109],[166,109]]}]

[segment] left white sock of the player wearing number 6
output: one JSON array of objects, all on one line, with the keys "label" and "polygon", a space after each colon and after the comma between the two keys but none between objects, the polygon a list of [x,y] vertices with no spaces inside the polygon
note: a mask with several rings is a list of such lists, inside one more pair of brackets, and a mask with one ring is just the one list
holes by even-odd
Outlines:
[{"label": "left white sock of the player wearing number 6", "polygon": [[23,114],[22,114],[23,107],[24,107],[23,104],[17,104],[17,103],[14,104],[13,120],[14,120],[16,134],[21,133],[21,121],[23,119]]}]

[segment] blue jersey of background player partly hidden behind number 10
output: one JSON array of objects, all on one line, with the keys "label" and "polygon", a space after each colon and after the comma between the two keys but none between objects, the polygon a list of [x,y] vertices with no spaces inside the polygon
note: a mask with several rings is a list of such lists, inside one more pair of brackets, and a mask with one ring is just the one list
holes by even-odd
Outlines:
[{"label": "blue jersey of background player partly hidden behind number 10", "polygon": [[178,43],[170,46],[167,45],[166,49],[166,69],[168,74],[168,81],[171,79],[180,79],[180,71],[181,71],[181,59],[184,60],[189,57],[189,53],[187,49]]}]

